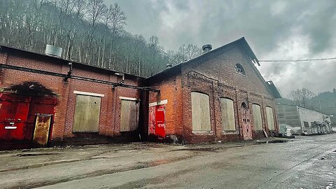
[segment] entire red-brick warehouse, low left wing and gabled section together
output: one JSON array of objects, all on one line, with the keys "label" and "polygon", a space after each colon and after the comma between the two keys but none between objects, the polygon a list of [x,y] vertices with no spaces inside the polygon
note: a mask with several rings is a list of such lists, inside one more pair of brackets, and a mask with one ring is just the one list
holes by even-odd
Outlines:
[{"label": "entire red-brick warehouse, low left wing and gabled section together", "polygon": [[143,78],[55,57],[48,48],[41,55],[1,46],[1,144],[195,144],[279,132],[280,94],[256,69],[245,38],[203,50]]}]

